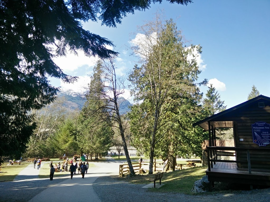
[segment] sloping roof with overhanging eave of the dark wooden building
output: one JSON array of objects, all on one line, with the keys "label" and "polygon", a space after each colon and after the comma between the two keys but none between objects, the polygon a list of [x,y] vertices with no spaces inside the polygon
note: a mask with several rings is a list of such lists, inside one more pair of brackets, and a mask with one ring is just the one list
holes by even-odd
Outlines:
[{"label": "sloping roof with overhanging eave of the dark wooden building", "polygon": [[231,107],[230,109],[224,110],[223,112],[214,114],[213,116],[207,117],[201,121],[198,121],[193,124],[194,126],[200,126],[205,131],[209,130],[208,121],[211,122],[211,125],[215,128],[232,128],[233,127],[233,120],[231,117],[234,117],[237,113],[237,110],[240,108],[246,108],[249,105],[257,105],[258,103],[263,102],[264,106],[270,106],[270,97],[266,97],[264,95],[259,95],[254,97],[251,100],[243,102],[239,105]]}]

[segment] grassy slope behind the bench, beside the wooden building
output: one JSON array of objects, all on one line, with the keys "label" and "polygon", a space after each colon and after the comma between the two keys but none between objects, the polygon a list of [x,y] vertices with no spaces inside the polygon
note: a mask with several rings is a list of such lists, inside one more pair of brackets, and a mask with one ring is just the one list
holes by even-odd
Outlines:
[{"label": "grassy slope behind the bench, beside the wooden building", "polygon": [[[164,173],[161,183],[165,184],[159,189],[149,189],[153,192],[170,192],[181,194],[192,194],[191,189],[194,182],[205,176],[206,166],[190,168],[184,170],[176,170],[174,172]],[[134,177],[116,177],[118,180],[124,180],[133,184],[149,184],[149,178],[153,179],[154,175],[139,175]],[[157,182],[156,182],[157,183]]]}]

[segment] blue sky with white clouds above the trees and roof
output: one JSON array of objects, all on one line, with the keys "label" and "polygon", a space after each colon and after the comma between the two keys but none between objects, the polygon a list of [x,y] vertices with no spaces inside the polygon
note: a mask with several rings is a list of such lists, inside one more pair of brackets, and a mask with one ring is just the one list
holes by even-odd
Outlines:
[{"label": "blue sky with white clouds above the trees and roof", "polygon": [[[260,94],[270,96],[270,1],[199,1],[188,6],[151,4],[146,11],[137,11],[123,18],[117,28],[101,26],[100,22],[87,22],[83,26],[92,33],[113,41],[115,50],[120,53],[119,74],[125,74],[134,65],[133,58],[126,51],[125,44],[134,39],[137,27],[151,20],[157,9],[163,9],[167,19],[174,19],[178,29],[190,43],[203,47],[200,55],[204,69],[198,81],[204,78],[213,83],[227,109],[247,100],[252,85]],[[180,16],[180,17],[179,17]],[[179,17],[179,18],[178,18]],[[178,18],[178,19],[177,19]],[[51,79],[55,86],[76,90],[89,80],[96,58],[67,55],[57,58],[56,64],[66,74],[80,76],[73,85]],[[202,87],[204,94],[207,87]]]}]

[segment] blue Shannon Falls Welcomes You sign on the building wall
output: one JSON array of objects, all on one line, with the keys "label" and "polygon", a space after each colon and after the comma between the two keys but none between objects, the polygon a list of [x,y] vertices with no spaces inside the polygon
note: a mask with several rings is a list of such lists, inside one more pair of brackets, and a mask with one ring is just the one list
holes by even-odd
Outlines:
[{"label": "blue Shannon Falls Welcomes You sign on the building wall", "polygon": [[266,146],[270,143],[270,124],[256,122],[251,125],[253,142],[259,146]]}]

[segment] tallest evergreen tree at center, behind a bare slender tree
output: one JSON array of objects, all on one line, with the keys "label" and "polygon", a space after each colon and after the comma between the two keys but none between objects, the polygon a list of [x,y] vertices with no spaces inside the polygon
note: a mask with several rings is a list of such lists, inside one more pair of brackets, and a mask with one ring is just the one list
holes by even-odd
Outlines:
[{"label": "tallest evergreen tree at center, behind a bare slender tree", "polygon": [[131,127],[134,137],[137,137],[134,140],[136,146],[144,144],[146,148],[148,145],[144,152],[150,156],[149,174],[152,174],[159,142],[165,139],[173,142],[170,131],[180,116],[179,113],[172,113],[173,110],[183,107],[188,111],[184,107],[188,103],[185,100],[196,99],[198,95],[195,81],[200,70],[195,59],[190,61],[187,57],[193,55],[193,51],[200,53],[201,47],[185,47],[176,24],[172,20],[164,21],[158,14],[154,21],[147,22],[139,31],[145,37],[133,50],[140,55],[141,66],[133,68],[129,79],[134,85],[132,93],[135,98],[143,102],[132,108],[135,111],[131,114]]}]

